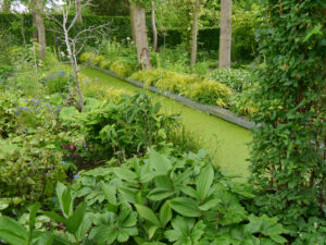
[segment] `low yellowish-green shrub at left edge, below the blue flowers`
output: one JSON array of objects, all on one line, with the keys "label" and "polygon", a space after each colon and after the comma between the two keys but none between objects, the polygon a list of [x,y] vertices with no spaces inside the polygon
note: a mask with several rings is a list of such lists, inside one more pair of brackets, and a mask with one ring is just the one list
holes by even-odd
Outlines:
[{"label": "low yellowish-green shrub at left edge, below the blue flowers", "polygon": [[1,207],[3,213],[7,208],[36,200],[51,203],[47,198],[53,196],[57,181],[66,177],[57,140],[43,131],[14,140],[0,139],[0,203],[2,198],[9,201]]}]

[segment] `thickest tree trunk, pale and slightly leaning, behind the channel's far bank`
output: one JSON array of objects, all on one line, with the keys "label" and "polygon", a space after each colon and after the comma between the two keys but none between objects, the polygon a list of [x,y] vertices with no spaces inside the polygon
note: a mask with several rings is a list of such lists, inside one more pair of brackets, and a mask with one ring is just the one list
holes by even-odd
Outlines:
[{"label": "thickest tree trunk, pale and slightly leaning, behind the channel's far bank", "polygon": [[138,54],[139,68],[149,70],[151,69],[148,39],[146,32],[146,10],[143,7],[130,3],[130,12],[135,28],[136,48]]}]

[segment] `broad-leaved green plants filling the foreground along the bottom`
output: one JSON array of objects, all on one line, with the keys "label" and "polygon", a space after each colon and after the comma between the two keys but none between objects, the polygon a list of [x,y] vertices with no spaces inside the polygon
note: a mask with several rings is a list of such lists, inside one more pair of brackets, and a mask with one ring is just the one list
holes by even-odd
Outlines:
[{"label": "broad-leaved green plants filling the foreground along the bottom", "polygon": [[[121,167],[80,173],[72,188],[57,185],[63,217],[46,216],[64,225],[65,236],[39,233],[47,244],[285,244],[287,230],[277,218],[248,213],[242,200],[254,198],[249,186],[233,183],[211,166],[204,151],[171,158],[151,150],[145,159]],[[75,197],[82,203],[75,208]],[[30,211],[35,219],[39,205]],[[7,223],[7,225],[4,225]],[[0,217],[0,237],[22,237],[27,231]],[[43,234],[41,236],[41,234]],[[67,242],[67,241],[71,242]],[[15,241],[15,240],[14,240]],[[12,242],[13,245],[18,243]]]}]

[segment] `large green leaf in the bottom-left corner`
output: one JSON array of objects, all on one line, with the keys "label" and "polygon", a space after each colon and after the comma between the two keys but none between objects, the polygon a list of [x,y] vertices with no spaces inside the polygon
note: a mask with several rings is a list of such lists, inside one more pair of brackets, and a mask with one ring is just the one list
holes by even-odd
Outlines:
[{"label": "large green leaf in the bottom-left corner", "polygon": [[10,245],[28,244],[28,233],[17,221],[0,217],[0,238]]}]

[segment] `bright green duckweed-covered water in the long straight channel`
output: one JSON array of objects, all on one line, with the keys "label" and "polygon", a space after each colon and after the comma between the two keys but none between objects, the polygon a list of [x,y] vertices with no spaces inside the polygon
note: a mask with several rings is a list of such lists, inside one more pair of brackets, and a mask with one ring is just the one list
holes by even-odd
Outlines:
[{"label": "bright green duckweed-covered water in the long straight channel", "polygon": [[[143,90],[96,69],[87,68],[82,73],[91,79],[92,86],[96,86],[97,89],[122,89],[127,93]],[[161,102],[166,112],[180,113],[186,130],[200,137],[203,147],[213,151],[216,164],[226,174],[248,176],[249,162],[246,159],[249,157],[247,144],[252,138],[250,131],[197,109],[188,108],[164,96],[147,93],[153,97],[154,101]]]}]

